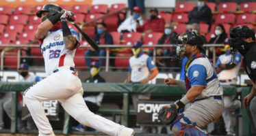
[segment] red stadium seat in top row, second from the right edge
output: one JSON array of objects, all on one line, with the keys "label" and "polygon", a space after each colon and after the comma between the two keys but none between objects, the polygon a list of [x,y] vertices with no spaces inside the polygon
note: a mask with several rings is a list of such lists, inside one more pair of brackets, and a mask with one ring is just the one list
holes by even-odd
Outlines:
[{"label": "red stadium seat in top row, second from the right edge", "polygon": [[218,12],[235,12],[237,7],[238,3],[223,2],[218,5]]}]

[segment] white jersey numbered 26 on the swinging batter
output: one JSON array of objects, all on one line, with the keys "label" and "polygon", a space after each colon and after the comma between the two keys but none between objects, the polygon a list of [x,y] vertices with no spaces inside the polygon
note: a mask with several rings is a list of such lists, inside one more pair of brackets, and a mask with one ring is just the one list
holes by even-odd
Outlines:
[{"label": "white jersey numbered 26 on the swinging batter", "polygon": [[[78,37],[77,32],[71,29],[71,33]],[[40,42],[40,49],[44,57],[45,71],[47,75],[59,67],[75,67],[75,50],[68,50],[64,46],[62,29],[49,31],[47,36]]]}]

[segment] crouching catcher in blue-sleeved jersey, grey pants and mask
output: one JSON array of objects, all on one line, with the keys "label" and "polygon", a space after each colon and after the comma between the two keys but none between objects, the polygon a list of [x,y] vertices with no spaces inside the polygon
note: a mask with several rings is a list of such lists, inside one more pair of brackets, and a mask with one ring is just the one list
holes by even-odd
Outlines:
[{"label": "crouching catcher in blue-sleeved jersey, grey pants and mask", "polygon": [[[176,58],[188,57],[185,82],[167,78],[164,83],[186,88],[187,93],[175,104],[163,106],[158,113],[159,120],[170,124],[174,135],[207,135],[201,129],[218,119],[224,109],[222,87],[214,65],[201,53],[203,51],[203,39],[196,33],[185,33],[177,38]],[[178,115],[179,109],[188,103],[192,105]]]}]

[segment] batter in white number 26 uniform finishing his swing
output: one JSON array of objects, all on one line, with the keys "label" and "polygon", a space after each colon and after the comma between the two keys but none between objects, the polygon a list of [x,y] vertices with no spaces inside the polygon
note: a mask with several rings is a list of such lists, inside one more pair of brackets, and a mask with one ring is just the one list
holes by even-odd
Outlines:
[{"label": "batter in white number 26 uniform finishing his swing", "polygon": [[[133,129],[116,124],[90,112],[84,99],[81,80],[75,72],[73,61],[79,46],[78,34],[68,28],[68,12],[59,5],[46,4],[36,13],[42,22],[36,30],[36,38],[44,57],[47,78],[27,89],[23,95],[40,136],[53,136],[53,129],[41,101],[57,99],[62,107],[84,126],[90,126],[112,136],[132,136]],[[69,16],[69,15],[68,15]]]}]

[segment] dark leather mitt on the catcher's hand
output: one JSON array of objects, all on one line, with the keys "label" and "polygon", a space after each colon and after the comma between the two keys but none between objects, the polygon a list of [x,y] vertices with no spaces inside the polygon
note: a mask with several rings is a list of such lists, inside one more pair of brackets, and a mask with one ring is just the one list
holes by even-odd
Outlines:
[{"label": "dark leather mitt on the catcher's hand", "polygon": [[170,105],[170,107],[163,107],[158,112],[158,120],[164,125],[171,124],[178,116],[178,109],[176,105]]}]

